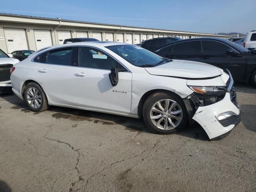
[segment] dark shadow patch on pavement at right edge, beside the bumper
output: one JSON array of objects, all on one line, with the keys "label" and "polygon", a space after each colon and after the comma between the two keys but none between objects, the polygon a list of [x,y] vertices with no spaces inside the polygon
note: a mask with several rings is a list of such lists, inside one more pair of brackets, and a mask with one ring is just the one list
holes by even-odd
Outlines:
[{"label": "dark shadow patch on pavement at right edge, beside the bumper", "polygon": [[240,105],[240,111],[245,128],[256,132],[256,105]]}]

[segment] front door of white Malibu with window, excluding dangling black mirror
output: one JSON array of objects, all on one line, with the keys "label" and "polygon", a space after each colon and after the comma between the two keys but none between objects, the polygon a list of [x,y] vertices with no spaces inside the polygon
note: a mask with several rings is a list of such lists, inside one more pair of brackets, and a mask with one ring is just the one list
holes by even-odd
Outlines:
[{"label": "front door of white Malibu with window, excluding dangling black mirror", "polygon": [[[111,68],[119,70],[116,86],[112,86],[108,76]],[[79,47],[74,84],[77,106],[130,114],[132,73],[101,50]]]}]

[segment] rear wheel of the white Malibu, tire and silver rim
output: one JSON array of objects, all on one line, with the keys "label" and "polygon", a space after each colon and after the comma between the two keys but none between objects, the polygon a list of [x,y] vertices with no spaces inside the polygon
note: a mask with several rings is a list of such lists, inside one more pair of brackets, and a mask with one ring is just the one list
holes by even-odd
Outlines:
[{"label": "rear wheel of the white Malibu, tire and silver rim", "polygon": [[24,90],[24,100],[28,108],[34,112],[42,112],[49,108],[44,91],[37,83],[34,82],[26,85]]}]

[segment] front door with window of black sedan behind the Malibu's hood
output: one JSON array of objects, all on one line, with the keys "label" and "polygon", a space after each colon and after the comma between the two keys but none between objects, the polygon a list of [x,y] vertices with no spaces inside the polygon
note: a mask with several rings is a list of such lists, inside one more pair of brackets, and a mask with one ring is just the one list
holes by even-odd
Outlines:
[{"label": "front door with window of black sedan behind the Malibu's hood", "polygon": [[202,40],[202,62],[230,70],[234,80],[244,79],[246,71],[246,59],[242,54],[229,55],[227,50],[232,49],[228,45],[214,40]]}]

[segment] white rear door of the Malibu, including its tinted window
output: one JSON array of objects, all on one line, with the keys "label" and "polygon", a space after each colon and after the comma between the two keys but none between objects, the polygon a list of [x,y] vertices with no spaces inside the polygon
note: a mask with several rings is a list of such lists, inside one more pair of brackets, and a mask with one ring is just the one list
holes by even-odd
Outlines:
[{"label": "white rear door of the Malibu, including its tinted window", "polygon": [[34,58],[36,80],[56,104],[76,106],[74,92],[75,48],[64,47],[44,52]]}]

